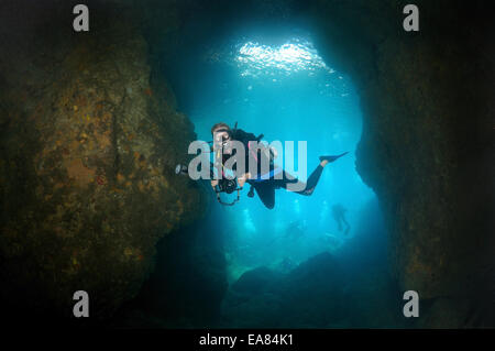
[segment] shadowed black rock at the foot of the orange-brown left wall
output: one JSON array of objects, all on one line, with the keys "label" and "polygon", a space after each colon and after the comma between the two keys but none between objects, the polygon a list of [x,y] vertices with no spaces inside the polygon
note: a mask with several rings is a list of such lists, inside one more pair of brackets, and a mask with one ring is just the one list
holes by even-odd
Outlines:
[{"label": "shadowed black rock at the foot of the orange-brown left wall", "polygon": [[205,328],[218,322],[227,272],[213,218],[210,213],[158,242],[154,272],[112,319],[112,327]]}]

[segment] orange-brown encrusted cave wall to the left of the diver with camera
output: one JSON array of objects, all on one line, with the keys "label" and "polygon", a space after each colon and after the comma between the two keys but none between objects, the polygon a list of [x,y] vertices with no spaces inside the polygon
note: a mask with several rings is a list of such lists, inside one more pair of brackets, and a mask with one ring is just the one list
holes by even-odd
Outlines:
[{"label": "orange-brown encrusted cave wall to the left of the diver with camera", "polygon": [[111,316],[205,205],[174,174],[194,127],[154,78],[135,12],[90,1],[90,32],[75,33],[74,4],[2,2],[0,297],[20,318],[70,316],[79,289]]}]

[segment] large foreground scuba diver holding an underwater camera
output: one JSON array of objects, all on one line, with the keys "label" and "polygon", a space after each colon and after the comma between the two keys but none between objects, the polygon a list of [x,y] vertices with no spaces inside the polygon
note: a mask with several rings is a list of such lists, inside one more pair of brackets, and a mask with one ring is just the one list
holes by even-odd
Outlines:
[{"label": "large foreground scuba diver holding an underwater camera", "polygon": [[[265,205],[265,207],[267,207],[268,209],[273,209],[275,207],[275,189],[285,188],[288,190],[288,187],[290,184],[298,183],[298,185],[300,185],[300,188],[302,188],[302,190],[293,191],[293,193],[297,193],[299,195],[305,195],[305,196],[310,196],[315,191],[315,188],[318,184],[318,180],[320,179],[320,176],[321,176],[321,173],[323,172],[324,166],[327,166],[329,163],[334,162],[336,160],[338,160],[346,154],[346,152],[345,152],[343,154],[336,155],[336,156],[320,156],[319,165],[309,175],[307,183],[304,184],[299,179],[297,179],[296,177],[294,177],[293,175],[287,173],[286,171],[282,169],[282,167],[276,166],[273,163],[273,160],[277,157],[277,152],[274,147],[264,146],[263,152],[260,149],[256,152],[254,152],[252,150],[251,143],[260,142],[260,140],[263,138],[263,134],[260,136],[255,136],[252,133],[248,133],[241,129],[238,129],[237,123],[235,123],[235,128],[231,129],[227,123],[220,122],[220,123],[215,124],[211,128],[211,135],[213,136],[213,144],[218,145],[218,150],[222,151],[222,160],[221,160],[222,166],[227,158],[229,158],[230,156],[235,154],[231,146],[232,141],[239,141],[244,145],[244,150],[245,150],[245,155],[244,155],[245,158],[244,160],[245,160],[246,165],[249,164],[250,153],[256,161],[257,167],[260,167],[262,164],[262,157],[270,158],[268,174],[262,175],[262,176],[255,176],[255,175],[252,175],[251,173],[246,172],[243,175],[238,177],[239,187],[242,189],[242,187],[244,186],[245,183],[250,184],[251,189],[250,189],[248,196],[253,197],[254,196],[253,189],[256,190],[257,196],[260,197],[262,202]],[[263,144],[260,143],[258,145],[262,146]],[[235,164],[234,164],[233,169],[231,169],[231,171],[235,172]],[[276,174],[279,174],[280,172],[283,173],[282,178],[280,179],[274,178],[274,176]],[[218,179],[211,180],[211,186],[213,187],[213,189],[216,189],[216,187],[218,185],[219,185]]]}]

